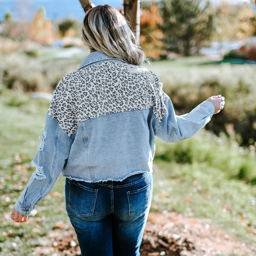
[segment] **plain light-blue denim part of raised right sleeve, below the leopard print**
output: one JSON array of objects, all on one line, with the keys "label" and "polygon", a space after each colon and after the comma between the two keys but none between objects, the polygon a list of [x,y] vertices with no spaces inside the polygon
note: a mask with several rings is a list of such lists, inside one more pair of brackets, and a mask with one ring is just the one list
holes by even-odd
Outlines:
[{"label": "plain light-blue denim part of raised right sleeve, below the leopard print", "polygon": [[170,98],[164,102],[165,114],[160,123],[156,117],[152,126],[157,138],[164,142],[177,142],[192,137],[212,118],[214,106],[205,100],[188,114],[177,116]]}]

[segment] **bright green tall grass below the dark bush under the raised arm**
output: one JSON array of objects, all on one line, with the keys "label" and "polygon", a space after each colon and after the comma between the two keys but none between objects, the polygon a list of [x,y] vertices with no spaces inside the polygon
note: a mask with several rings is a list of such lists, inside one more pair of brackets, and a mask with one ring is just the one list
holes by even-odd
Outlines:
[{"label": "bright green tall grass below the dark bush under the raised arm", "polygon": [[154,161],[158,163],[206,164],[220,170],[226,179],[239,179],[253,185],[256,180],[255,146],[242,148],[224,133],[220,137],[200,131],[194,137],[177,143],[156,140]]}]

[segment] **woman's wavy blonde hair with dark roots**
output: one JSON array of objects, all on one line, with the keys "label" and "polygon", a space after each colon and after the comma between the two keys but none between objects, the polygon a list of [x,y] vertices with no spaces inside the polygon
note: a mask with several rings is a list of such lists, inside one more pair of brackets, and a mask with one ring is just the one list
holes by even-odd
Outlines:
[{"label": "woman's wavy blonde hair with dark roots", "polygon": [[108,4],[97,5],[85,13],[82,41],[91,51],[103,52],[134,65],[148,62],[124,16]]}]

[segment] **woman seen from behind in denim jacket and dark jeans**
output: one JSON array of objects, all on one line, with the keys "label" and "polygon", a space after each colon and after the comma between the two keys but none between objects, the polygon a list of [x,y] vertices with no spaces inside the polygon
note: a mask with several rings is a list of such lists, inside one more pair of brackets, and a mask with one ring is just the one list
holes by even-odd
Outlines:
[{"label": "woman seen from behind in denim jacket and dark jeans", "polygon": [[82,255],[140,255],[152,196],[155,136],[187,139],[220,112],[213,96],[176,116],[162,83],[124,17],[109,5],[84,16],[91,53],[54,91],[28,185],[12,210],[27,221],[57,177],[66,177],[66,209]]}]

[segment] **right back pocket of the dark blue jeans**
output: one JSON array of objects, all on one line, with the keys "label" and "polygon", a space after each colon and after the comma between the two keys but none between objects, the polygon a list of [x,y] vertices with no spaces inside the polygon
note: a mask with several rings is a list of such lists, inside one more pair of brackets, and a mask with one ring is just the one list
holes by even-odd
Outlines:
[{"label": "right back pocket of the dark blue jeans", "polygon": [[141,216],[151,203],[151,183],[143,188],[127,192],[129,215]]}]

